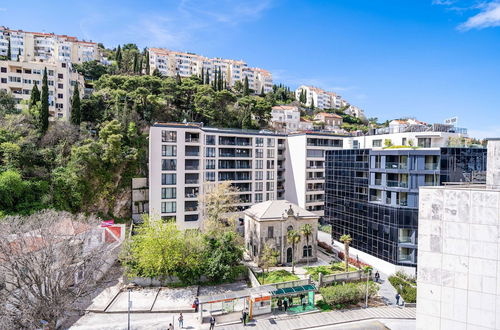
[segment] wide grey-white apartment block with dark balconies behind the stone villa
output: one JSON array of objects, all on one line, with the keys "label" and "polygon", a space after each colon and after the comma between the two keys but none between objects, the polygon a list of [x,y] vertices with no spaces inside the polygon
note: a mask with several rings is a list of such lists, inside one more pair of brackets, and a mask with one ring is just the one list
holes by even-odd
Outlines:
[{"label": "wide grey-white apartment block with dark balconies behind the stone villa", "polygon": [[[155,124],[149,135],[149,213],[199,228],[198,196],[231,181],[239,211],[283,198],[286,136],[273,132],[217,129],[201,124]],[[243,215],[241,214],[241,219]]]}]

